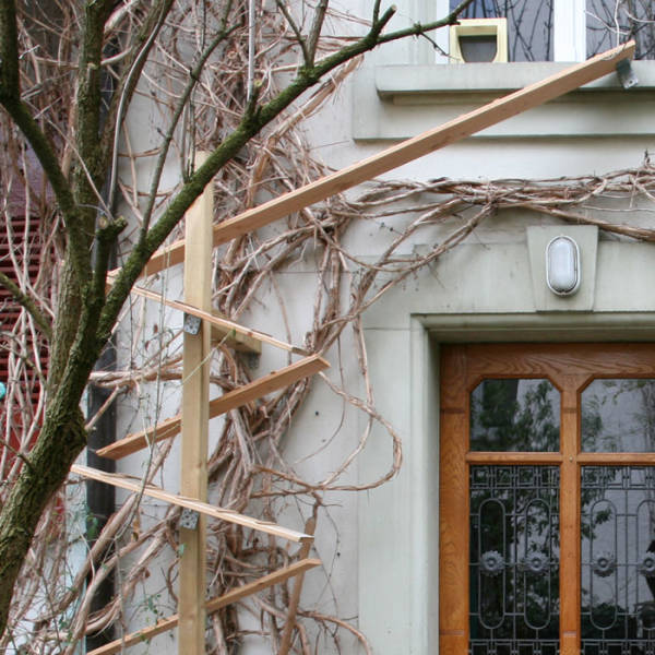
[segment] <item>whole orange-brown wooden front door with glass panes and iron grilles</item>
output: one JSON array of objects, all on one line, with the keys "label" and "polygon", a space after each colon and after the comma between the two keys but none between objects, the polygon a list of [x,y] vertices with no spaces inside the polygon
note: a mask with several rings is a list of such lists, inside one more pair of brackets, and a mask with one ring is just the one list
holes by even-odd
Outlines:
[{"label": "whole orange-brown wooden front door with glass panes and iron grilles", "polygon": [[444,346],[440,653],[655,655],[655,345]]}]

